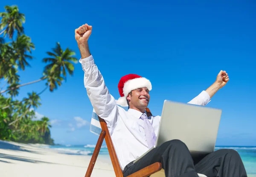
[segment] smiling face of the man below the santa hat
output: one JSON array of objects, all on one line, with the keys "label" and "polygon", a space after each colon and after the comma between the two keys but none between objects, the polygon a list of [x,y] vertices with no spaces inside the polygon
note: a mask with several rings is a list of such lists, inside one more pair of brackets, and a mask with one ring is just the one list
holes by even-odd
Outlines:
[{"label": "smiling face of the man below the santa hat", "polygon": [[149,90],[147,87],[132,90],[126,98],[131,109],[145,110],[150,100]]}]

